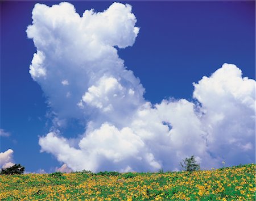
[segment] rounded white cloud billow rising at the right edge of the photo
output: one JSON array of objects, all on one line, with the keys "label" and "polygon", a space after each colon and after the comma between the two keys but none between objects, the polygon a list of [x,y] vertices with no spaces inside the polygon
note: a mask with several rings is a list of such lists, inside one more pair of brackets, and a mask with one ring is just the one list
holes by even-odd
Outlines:
[{"label": "rounded white cloud billow rising at the right edge of the photo", "polygon": [[236,65],[224,64],[212,76],[194,83],[193,97],[205,113],[208,152],[229,164],[255,160],[255,81],[242,77]]}]

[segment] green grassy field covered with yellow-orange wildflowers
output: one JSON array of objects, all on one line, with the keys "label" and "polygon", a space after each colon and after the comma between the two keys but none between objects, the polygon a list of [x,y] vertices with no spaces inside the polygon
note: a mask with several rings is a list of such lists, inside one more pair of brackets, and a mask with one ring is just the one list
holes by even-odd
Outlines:
[{"label": "green grassy field covered with yellow-orange wildflowers", "polygon": [[255,200],[255,164],[191,173],[0,175],[0,200]]}]

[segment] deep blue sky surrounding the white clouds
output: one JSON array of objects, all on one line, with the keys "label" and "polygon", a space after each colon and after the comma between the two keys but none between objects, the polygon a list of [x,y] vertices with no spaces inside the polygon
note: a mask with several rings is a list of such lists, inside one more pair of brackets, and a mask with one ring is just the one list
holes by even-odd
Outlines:
[{"label": "deep blue sky surrounding the white clouds", "polygon": [[[52,119],[46,115],[52,109],[29,73],[36,47],[26,30],[32,24],[35,3],[52,6],[60,2],[1,1],[0,128],[10,136],[1,136],[0,151],[13,149],[13,161],[25,166],[27,171],[49,172],[55,171],[63,161],[57,161],[54,154],[40,153],[42,147],[38,143],[39,136],[45,136],[52,126]],[[81,16],[84,10],[102,12],[113,2],[71,3]],[[117,48],[118,55],[140,79],[146,90],[145,101],[155,104],[171,97],[193,102],[192,83],[203,76],[209,77],[224,63],[235,64],[243,77],[255,79],[254,1],[121,3],[133,7],[135,26],[140,30],[131,47]],[[84,125],[69,123],[59,129],[65,137],[75,137],[84,132],[83,128]]]}]

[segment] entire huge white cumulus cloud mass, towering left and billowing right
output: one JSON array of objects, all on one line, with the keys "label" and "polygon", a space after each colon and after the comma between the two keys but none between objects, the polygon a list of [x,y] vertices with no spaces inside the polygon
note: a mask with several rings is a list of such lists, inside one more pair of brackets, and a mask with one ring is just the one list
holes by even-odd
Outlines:
[{"label": "entire huge white cumulus cloud mass, towering left and billowing right", "polygon": [[[30,74],[54,114],[39,144],[67,168],[174,170],[192,154],[205,168],[253,162],[255,81],[237,66],[224,64],[194,83],[194,102],[152,105],[118,57],[117,47],[132,46],[139,33],[130,5],[80,16],[70,3],[36,4],[32,19],[27,35],[37,52]],[[84,124],[76,140],[60,132],[71,119]]]}]

